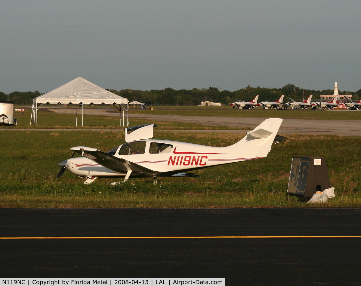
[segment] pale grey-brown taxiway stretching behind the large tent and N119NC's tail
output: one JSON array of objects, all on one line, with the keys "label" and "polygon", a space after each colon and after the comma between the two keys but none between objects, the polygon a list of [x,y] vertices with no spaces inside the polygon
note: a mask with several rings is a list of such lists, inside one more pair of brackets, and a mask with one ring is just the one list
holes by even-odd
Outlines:
[{"label": "pale grey-brown taxiway stretching behind the large tent and N119NC's tail", "polygon": [[[75,109],[54,108],[49,109],[59,113],[75,113]],[[112,112],[109,109],[84,109],[84,114],[119,116],[119,113]],[[265,110],[266,115],[267,110]],[[315,111],[315,117],[317,116]],[[327,111],[322,111],[327,112]],[[341,112],[341,111],[340,111]],[[342,112],[353,112],[346,110]],[[359,112],[356,110],[355,112]],[[181,116],[181,115],[152,115],[152,114],[129,114],[129,118],[143,118],[155,121],[172,121],[184,123],[201,123],[210,126],[229,126],[229,127],[251,127],[255,128],[267,117],[227,117],[227,116]],[[279,110],[279,118],[282,118],[282,110]],[[319,119],[300,119],[285,118],[279,129],[279,134],[333,134],[341,136],[361,136],[360,120],[319,120]]]}]

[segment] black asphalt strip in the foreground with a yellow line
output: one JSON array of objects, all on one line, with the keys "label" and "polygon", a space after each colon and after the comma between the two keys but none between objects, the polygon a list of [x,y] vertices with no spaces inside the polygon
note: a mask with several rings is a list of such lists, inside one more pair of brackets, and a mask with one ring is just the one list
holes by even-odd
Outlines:
[{"label": "black asphalt strip in the foreground with a yellow line", "polygon": [[0,226],[2,278],[361,284],[361,237],[335,237],[361,236],[361,208],[3,208]]}]

